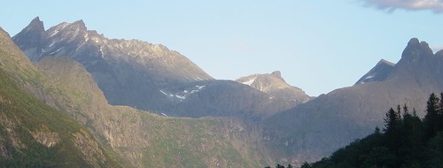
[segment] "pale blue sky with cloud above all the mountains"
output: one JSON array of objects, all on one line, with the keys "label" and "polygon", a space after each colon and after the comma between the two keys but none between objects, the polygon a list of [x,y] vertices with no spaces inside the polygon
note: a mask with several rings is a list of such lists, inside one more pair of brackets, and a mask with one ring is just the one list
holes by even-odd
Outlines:
[{"label": "pale blue sky with cloud above all the mountains", "polygon": [[[3,1],[3,0],[2,0]],[[83,19],[108,38],[177,50],[216,79],[279,70],[308,95],[354,85],[381,58],[396,63],[409,39],[443,47],[440,0],[4,1],[14,35]]]}]

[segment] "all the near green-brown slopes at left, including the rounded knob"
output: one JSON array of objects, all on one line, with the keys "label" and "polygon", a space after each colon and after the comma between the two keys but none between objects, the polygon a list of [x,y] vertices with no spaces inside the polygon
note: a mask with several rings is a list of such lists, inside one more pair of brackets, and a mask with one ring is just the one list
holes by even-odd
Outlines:
[{"label": "all the near green-brown slopes at left, including the rounded knob", "polygon": [[110,105],[92,75],[71,57],[43,57],[33,65],[1,33],[4,165],[257,167],[275,159],[260,145],[260,132],[251,131],[258,126]]}]

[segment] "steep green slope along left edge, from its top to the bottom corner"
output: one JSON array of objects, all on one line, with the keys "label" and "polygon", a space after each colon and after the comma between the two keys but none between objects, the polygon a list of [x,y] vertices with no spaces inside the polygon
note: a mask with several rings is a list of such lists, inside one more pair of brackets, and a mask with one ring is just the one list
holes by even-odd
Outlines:
[{"label": "steep green slope along left edge, from its top to the bottom corner", "polygon": [[25,91],[44,80],[0,28],[0,164],[120,167],[88,129]]}]

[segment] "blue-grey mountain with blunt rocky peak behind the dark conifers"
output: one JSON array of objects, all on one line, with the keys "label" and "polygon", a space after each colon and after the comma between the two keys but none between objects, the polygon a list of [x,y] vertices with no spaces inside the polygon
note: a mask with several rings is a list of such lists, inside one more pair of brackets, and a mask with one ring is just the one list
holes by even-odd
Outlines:
[{"label": "blue-grey mountain with blunt rocky peak behind the dark conifers", "polygon": [[[383,127],[385,112],[398,104],[416,108],[423,116],[428,96],[443,90],[442,66],[443,57],[414,38],[396,65],[381,62],[360,84],[320,95],[266,123],[286,123],[275,126],[274,138],[296,156],[320,159],[372,133],[376,126]],[[375,80],[368,78],[372,75]]]}]

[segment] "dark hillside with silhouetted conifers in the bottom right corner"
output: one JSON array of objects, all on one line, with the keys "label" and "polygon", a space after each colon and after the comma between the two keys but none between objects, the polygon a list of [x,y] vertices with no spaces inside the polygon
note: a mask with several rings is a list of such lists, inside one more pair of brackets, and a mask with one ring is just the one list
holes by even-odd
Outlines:
[{"label": "dark hillside with silhouetted conifers in the bottom right corner", "polygon": [[405,105],[386,112],[383,133],[338,149],[331,157],[301,167],[442,167],[443,93],[431,94],[424,119]]}]

